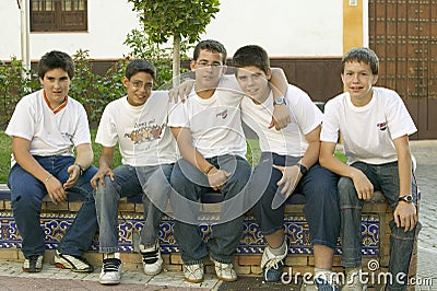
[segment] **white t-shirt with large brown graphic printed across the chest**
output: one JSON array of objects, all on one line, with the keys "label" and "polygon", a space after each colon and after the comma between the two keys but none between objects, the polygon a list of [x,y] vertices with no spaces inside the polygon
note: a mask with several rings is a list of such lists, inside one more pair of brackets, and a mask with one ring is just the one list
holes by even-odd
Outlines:
[{"label": "white t-shirt with large brown graphic printed across the chest", "polygon": [[153,91],[142,106],[128,97],[110,102],[98,125],[96,142],[111,148],[118,142],[122,164],[150,166],[177,161],[176,141],[167,127],[167,91]]}]

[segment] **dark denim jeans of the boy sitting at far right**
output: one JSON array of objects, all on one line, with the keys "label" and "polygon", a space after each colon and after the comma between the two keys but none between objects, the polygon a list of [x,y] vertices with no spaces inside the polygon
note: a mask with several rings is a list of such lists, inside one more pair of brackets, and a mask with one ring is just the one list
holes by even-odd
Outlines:
[{"label": "dark denim jeans of the boy sitting at far right", "polygon": [[[356,162],[352,166],[359,168],[374,185],[374,190],[382,191],[387,203],[394,212],[399,198],[399,172],[398,162],[371,165]],[[417,186],[412,178],[412,194],[417,202]],[[342,249],[344,267],[362,266],[362,208],[364,200],[358,199],[351,178],[341,177],[339,181],[340,209],[342,221]],[[410,260],[413,254],[414,240],[421,224],[409,232],[398,228],[394,221],[390,221],[390,261],[389,272],[395,278],[397,273],[409,273]],[[387,290],[405,290],[406,286],[393,280],[387,284]]]}]

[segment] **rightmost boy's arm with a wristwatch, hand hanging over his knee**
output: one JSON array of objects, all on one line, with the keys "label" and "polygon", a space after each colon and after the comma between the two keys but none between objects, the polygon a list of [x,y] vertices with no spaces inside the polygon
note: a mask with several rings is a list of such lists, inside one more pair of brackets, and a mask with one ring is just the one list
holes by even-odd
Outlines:
[{"label": "rightmost boy's arm with a wristwatch, hand hanging over his knee", "polygon": [[[399,197],[411,194],[412,161],[409,147],[409,137],[402,136],[393,140],[398,154]],[[394,210],[394,222],[398,228],[411,231],[417,223],[417,212],[414,203],[399,201]]]}]

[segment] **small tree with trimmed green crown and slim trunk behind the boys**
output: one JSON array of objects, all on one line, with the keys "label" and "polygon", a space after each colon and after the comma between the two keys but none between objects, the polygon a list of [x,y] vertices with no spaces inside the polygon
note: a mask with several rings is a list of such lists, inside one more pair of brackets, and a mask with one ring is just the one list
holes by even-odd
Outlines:
[{"label": "small tree with trimmed green crown and slim trunk behind the boys", "polygon": [[[193,44],[220,11],[218,0],[128,0],[139,13],[149,44],[166,44],[173,38],[173,78],[180,73],[184,40]],[[186,48],[187,46],[182,46]]]}]

